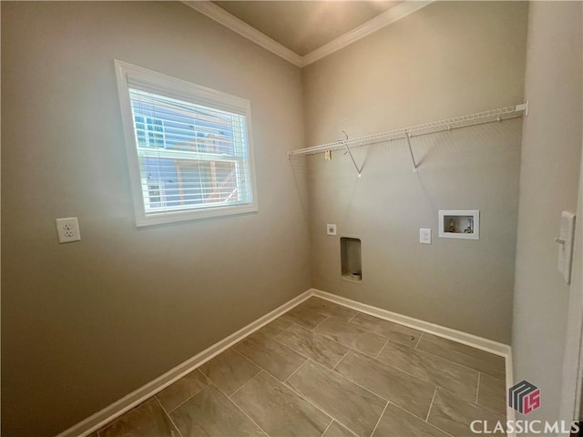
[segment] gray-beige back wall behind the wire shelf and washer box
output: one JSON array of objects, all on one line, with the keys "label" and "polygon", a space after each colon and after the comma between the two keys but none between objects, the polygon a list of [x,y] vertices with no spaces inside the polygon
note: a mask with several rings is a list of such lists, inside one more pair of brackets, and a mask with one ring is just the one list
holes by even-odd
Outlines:
[{"label": "gray-beige back wall behind the wire shelf and washer box", "polygon": [[[527,4],[439,2],[304,68],[307,146],[523,101]],[[309,158],[315,288],[510,342],[519,119]],[[438,209],[479,209],[480,239],[437,237]],[[338,237],[325,224],[338,225]],[[433,244],[419,244],[419,228]],[[362,238],[363,281],[339,238]]]}]

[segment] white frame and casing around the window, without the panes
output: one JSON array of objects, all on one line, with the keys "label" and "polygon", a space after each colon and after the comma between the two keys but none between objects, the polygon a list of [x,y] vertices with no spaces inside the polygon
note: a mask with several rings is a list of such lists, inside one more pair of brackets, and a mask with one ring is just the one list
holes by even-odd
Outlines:
[{"label": "white frame and casing around the window, without the panes", "polygon": [[[253,134],[251,123],[251,102],[242,97],[199,86],[177,77],[167,76],[141,66],[133,66],[123,61],[114,60],[116,77],[118,80],[118,96],[121,108],[121,121],[124,130],[124,142],[128,158],[129,178],[135,211],[136,226],[144,227],[164,223],[194,219],[209,219],[212,217],[246,214],[259,211],[257,184],[255,175],[255,154],[253,150]],[[138,81],[139,86],[149,88],[154,94],[177,98],[222,111],[228,111],[245,117],[245,130],[247,133],[247,156],[249,162],[249,185],[251,189],[251,203],[237,205],[198,207],[182,210],[165,210],[160,212],[147,212],[146,199],[143,195],[142,180],[140,174],[140,149],[134,130],[134,116],[131,110],[129,97],[129,80]],[[178,152],[179,153],[179,152]],[[203,155],[203,154],[200,154]],[[206,160],[206,159],[203,159]],[[219,162],[221,159],[217,159]],[[229,159],[224,159],[228,161]],[[239,183],[239,179],[237,180]],[[161,190],[160,190],[161,191]]]}]

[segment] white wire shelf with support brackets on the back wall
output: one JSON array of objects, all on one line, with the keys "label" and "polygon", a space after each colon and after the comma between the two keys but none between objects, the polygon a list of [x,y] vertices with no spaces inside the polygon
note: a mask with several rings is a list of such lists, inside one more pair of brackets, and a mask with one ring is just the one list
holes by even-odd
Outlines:
[{"label": "white wire shelf with support brackets on the back wall", "polygon": [[466,116],[447,118],[445,120],[434,121],[431,123],[424,123],[423,125],[415,125],[401,129],[395,129],[380,134],[367,135],[364,137],[349,138],[346,132],[343,131],[346,139],[335,141],[333,143],[326,143],[320,146],[299,148],[288,151],[288,158],[298,155],[313,155],[315,153],[322,153],[326,150],[344,149],[344,155],[350,155],[353,161],[354,168],[358,172],[358,177],[362,177],[363,168],[358,168],[354,160],[353,153],[350,147],[362,147],[372,144],[384,143],[393,141],[394,139],[405,139],[409,147],[411,160],[413,161],[413,172],[417,173],[419,168],[415,161],[413,147],[411,147],[411,137],[419,137],[422,135],[435,134],[445,130],[452,130],[461,127],[470,127],[476,125],[483,125],[486,123],[500,122],[510,118],[528,117],[528,101],[512,107],[500,107],[498,109],[491,109],[489,111],[478,112],[476,114],[469,114]]}]

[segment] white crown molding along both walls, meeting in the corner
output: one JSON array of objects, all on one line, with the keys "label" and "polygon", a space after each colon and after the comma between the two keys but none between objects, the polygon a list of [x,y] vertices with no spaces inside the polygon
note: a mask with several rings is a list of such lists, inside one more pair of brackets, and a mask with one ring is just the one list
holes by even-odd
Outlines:
[{"label": "white crown molding along both walls, meeting in the corner", "polygon": [[319,61],[322,57],[332,55],[332,53],[341,48],[353,44],[353,42],[358,41],[364,36],[371,35],[373,32],[382,29],[384,26],[390,25],[404,16],[412,14],[426,5],[432,4],[434,1],[435,0],[404,0],[403,3],[392,7],[381,15],[375,16],[373,19],[363,23],[363,25],[359,25],[358,27],[353,28],[353,30],[346,32],[344,35],[338,36],[324,46],[312,50],[312,52],[305,56],[300,56],[289,48],[281,46],[277,41],[261,33],[255,27],[248,25],[235,15],[231,15],[220,6],[211,3],[209,0],[183,0],[182,3],[198,11],[200,14],[207,15],[209,18],[228,27],[240,36],[246,37],[255,44],[269,50],[271,53],[282,57],[294,66],[303,67]]}]

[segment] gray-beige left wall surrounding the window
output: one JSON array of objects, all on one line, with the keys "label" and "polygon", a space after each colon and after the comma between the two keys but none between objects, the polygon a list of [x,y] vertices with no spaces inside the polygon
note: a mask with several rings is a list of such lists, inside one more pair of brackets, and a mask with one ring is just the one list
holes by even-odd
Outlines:
[{"label": "gray-beige left wall surrounding the window", "polygon": [[[251,100],[259,213],[136,229],[114,58]],[[178,2],[2,2],[2,106],[3,435],[63,431],[311,286],[297,67]]]}]

